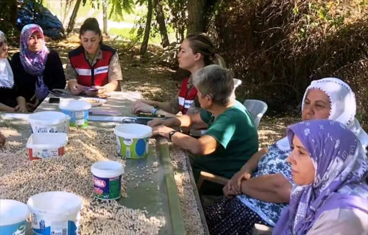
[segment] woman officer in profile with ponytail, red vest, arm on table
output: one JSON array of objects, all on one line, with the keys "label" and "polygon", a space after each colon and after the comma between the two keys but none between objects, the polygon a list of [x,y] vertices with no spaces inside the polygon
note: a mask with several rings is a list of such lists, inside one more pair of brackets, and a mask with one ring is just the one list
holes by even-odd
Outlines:
[{"label": "woman officer in profile with ponytail, red vest, arm on table", "polygon": [[[218,64],[225,67],[222,57],[214,53],[212,41],[205,33],[189,34],[181,43],[178,54],[179,68],[186,69],[194,74],[199,69],[210,64]],[[196,112],[199,109],[197,89],[192,85],[192,76],[186,77],[181,82],[178,94],[169,102],[152,100],[138,100],[131,105],[133,113],[144,112],[162,114],[167,117],[176,116],[178,112]]]}]

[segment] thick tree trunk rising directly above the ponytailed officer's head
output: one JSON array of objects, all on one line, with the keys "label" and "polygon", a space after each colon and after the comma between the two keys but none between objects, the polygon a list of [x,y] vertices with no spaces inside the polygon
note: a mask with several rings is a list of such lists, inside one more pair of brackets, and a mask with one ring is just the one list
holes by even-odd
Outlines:
[{"label": "thick tree trunk rising directly above the ponytailed officer's head", "polygon": [[187,34],[205,32],[205,6],[206,0],[188,1]]}]

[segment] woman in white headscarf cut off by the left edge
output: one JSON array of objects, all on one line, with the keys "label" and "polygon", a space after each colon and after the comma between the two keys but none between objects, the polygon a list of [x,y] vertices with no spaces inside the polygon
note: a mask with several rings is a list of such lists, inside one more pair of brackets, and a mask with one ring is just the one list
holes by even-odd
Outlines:
[{"label": "woman in white headscarf cut off by the left edge", "polygon": [[0,111],[26,112],[25,99],[17,91],[13,70],[7,57],[8,44],[5,34],[0,31]]}]

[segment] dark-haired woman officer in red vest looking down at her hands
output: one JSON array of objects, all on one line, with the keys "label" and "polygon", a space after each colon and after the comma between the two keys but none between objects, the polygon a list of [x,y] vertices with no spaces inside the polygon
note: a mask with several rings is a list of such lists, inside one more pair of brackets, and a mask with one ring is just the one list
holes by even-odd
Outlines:
[{"label": "dark-haired woman officer in red vest looking down at her hands", "polygon": [[79,31],[81,46],[69,52],[66,68],[68,89],[73,95],[99,96],[116,90],[122,79],[115,49],[102,43],[97,19],[88,18]]}]

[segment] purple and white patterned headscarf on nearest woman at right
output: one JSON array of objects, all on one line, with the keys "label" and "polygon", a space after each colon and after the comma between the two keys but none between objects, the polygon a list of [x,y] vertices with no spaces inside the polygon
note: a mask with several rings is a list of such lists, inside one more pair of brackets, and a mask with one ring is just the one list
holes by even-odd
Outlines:
[{"label": "purple and white patterned headscarf on nearest woman at right", "polygon": [[358,209],[368,213],[367,157],[357,138],[345,125],[331,120],[309,120],[289,126],[292,146],[296,135],[315,167],[309,185],[295,185],[290,204],[273,234],[306,234],[326,210]]}]

